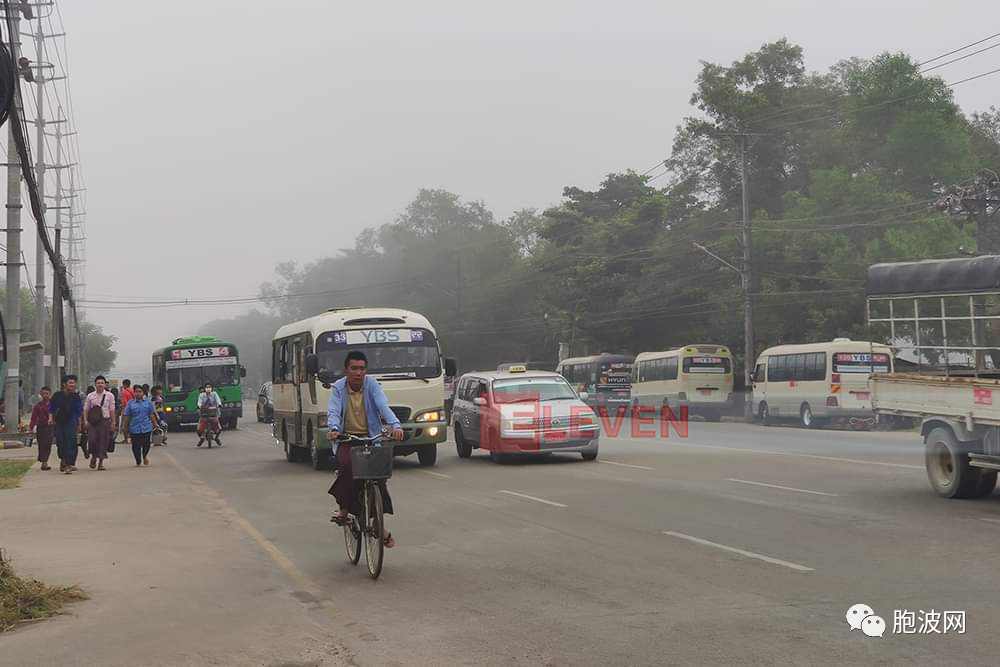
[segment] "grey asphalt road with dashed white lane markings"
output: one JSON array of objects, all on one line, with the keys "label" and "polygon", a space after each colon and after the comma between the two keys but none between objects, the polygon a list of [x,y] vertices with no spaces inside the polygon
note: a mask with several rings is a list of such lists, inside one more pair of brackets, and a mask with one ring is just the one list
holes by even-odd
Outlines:
[{"label": "grey asphalt road with dashed white lane markings", "polygon": [[[189,444],[187,441],[192,440]],[[497,465],[397,459],[399,546],[377,582],[328,523],[330,473],[269,427],[222,450],[173,436],[360,664],[994,664],[1000,499],[934,496],[913,433],[692,423]],[[317,605],[316,601],[321,604]],[[849,631],[871,606],[882,638]],[[894,610],[966,612],[965,634],[893,634]]]}]

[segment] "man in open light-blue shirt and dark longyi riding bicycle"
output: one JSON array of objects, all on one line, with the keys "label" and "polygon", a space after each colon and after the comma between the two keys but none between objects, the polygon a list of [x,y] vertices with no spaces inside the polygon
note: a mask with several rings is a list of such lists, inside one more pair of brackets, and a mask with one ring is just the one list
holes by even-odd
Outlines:
[{"label": "man in open light-blue shirt and dark longyi riding bicycle", "polygon": [[[333,383],[330,391],[330,404],[327,410],[327,425],[330,428],[327,438],[336,443],[337,479],[330,487],[330,495],[337,499],[340,510],[333,515],[334,523],[343,525],[347,515],[361,516],[360,485],[355,484],[351,470],[351,448],[349,443],[338,443],[341,432],[362,437],[374,438],[382,434],[382,423],[389,427],[389,439],[402,440],[403,430],[399,427],[399,418],[389,407],[389,400],[382,391],[382,386],[367,376],[368,357],[360,350],[352,350],[344,359],[344,377]],[[379,482],[382,491],[382,511],[392,514],[392,499],[385,487],[385,482]],[[386,531],[382,539],[385,546],[396,546],[392,533]]]}]

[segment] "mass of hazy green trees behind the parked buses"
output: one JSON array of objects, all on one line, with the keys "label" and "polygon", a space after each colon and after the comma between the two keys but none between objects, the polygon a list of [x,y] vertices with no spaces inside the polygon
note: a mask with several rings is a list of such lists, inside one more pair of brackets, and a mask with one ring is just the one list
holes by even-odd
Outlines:
[{"label": "mass of hazy green trees behind the parked buses", "polygon": [[506,219],[421,190],[354,247],[277,267],[262,287],[271,315],[254,322],[337,305],[408,308],[435,323],[464,368],[554,359],[559,342],[573,354],[695,341],[741,352],[739,276],[695,246],[742,261],[737,133],[751,135],[758,351],[863,337],[871,263],[1000,251],[992,224],[936,205],[949,188],[1000,172],[1000,112],[963,114],[943,80],[905,54],[816,73],[780,40],[728,65],[702,63],[691,104],[660,174],[611,173]]}]

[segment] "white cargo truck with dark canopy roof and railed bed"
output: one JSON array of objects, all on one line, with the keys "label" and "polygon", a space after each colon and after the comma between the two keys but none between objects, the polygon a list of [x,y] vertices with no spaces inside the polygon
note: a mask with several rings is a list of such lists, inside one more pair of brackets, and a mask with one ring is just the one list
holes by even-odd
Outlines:
[{"label": "white cargo truck with dark canopy roof and railed bed", "polygon": [[879,419],[920,420],[931,486],[946,498],[989,495],[1000,470],[1000,256],[868,269],[872,340],[895,352],[872,377]]}]

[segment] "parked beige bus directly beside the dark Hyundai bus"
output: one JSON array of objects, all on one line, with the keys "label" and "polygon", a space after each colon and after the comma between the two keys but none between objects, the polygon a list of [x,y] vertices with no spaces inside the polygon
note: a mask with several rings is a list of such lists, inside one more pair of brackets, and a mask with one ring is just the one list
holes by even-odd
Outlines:
[{"label": "parked beige bus directly beside the dark Hyundai bus", "polygon": [[719,421],[733,404],[733,357],[724,345],[643,352],[632,367],[632,405],[678,410]]}]

